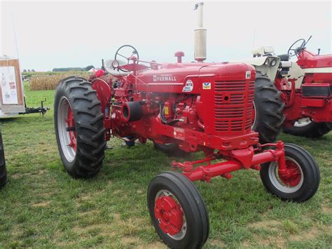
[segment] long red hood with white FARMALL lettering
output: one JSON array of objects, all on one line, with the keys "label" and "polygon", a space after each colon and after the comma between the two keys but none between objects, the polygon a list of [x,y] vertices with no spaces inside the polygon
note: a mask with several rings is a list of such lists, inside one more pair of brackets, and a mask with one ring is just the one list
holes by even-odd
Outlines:
[{"label": "long red hood with white FARMALL lettering", "polygon": [[199,94],[203,83],[207,83],[204,89],[208,90],[214,81],[247,79],[255,79],[255,69],[245,63],[174,63],[141,72],[134,87],[158,93]]}]

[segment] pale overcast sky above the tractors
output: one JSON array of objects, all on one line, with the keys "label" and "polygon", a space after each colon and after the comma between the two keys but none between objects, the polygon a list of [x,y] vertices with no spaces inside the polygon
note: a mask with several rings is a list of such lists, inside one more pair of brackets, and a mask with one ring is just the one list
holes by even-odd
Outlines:
[{"label": "pale overcast sky above the tractors", "polygon": [[[0,55],[22,69],[100,67],[123,44],[141,60],[193,60],[197,1],[0,1]],[[250,58],[259,46],[287,53],[310,35],[308,50],[332,53],[331,25],[331,1],[205,1],[206,61]]]}]

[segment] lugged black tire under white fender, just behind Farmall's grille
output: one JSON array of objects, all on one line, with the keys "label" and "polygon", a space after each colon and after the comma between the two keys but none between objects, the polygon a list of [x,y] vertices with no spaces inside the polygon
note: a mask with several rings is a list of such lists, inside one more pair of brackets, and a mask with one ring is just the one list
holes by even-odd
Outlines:
[{"label": "lugged black tire under white fender, just behind Farmall's grille", "polygon": [[284,123],[284,103],[280,97],[281,92],[275,88],[274,83],[260,72],[256,73],[255,83],[255,119],[252,129],[259,133],[259,142],[265,144],[275,142],[282,131]]}]

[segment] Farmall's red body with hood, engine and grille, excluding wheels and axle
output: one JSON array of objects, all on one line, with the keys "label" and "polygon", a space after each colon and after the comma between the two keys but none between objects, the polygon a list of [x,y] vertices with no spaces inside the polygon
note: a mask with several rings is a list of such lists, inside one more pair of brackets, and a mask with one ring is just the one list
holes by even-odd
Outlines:
[{"label": "Farmall's red body with hood, engine and grille, excluding wheels and axle", "polygon": [[102,103],[106,139],[177,142],[186,152],[230,150],[257,142],[251,131],[255,75],[243,63],[166,64],[118,78],[100,76],[92,88],[111,95]]}]

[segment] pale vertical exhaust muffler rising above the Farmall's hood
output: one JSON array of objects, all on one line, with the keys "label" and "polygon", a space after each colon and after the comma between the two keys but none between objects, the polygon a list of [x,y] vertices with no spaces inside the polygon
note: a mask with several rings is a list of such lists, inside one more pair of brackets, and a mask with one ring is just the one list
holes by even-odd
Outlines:
[{"label": "pale vertical exhaust muffler rising above the Farmall's hood", "polygon": [[198,3],[194,8],[198,11],[198,27],[194,30],[194,58],[197,62],[207,58],[207,29],[203,28],[203,4]]}]

